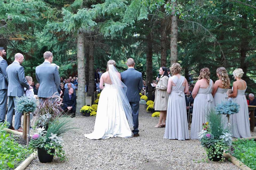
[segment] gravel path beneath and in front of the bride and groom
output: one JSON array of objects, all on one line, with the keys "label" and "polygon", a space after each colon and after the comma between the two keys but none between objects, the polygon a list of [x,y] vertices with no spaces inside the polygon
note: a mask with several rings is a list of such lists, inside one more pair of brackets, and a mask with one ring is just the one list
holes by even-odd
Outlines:
[{"label": "gravel path beneath and in front of the bride and groom", "polygon": [[141,107],[137,138],[90,140],[83,134],[93,131],[95,117],[71,118],[79,129],[63,136],[69,160],[54,158],[43,164],[37,158],[26,169],[239,169],[230,162],[208,161],[198,140],[163,139],[165,129],[154,128],[158,119],[146,118],[151,114],[144,110]]}]

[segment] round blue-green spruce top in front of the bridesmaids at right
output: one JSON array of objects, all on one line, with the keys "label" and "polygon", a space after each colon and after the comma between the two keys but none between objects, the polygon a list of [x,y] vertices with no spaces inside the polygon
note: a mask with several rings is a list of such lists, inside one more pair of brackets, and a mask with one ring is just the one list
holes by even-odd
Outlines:
[{"label": "round blue-green spruce top in front of the bridesmaids at right", "polygon": [[215,110],[218,114],[229,114],[229,115],[238,113],[239,109],[240,109],[239,104],[233,101],[222,102],[215,107]]}]

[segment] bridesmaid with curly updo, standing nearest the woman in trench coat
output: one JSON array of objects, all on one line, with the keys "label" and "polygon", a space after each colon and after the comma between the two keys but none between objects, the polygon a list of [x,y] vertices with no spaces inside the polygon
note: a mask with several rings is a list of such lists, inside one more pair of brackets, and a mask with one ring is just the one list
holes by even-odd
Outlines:
[{"label": "bridesmaid with curly updo, standing nearest the woman in trench coat", "polygon": [[171,66],[173,76],[169,78],[167,85],[167,92],[170,95],[167,107],[165,134],[163,136],[165,139],[189,139],[184,94],[189,91],[189,86],[186,78],[179,74],[181,69],[178,63],[174,63]]}]

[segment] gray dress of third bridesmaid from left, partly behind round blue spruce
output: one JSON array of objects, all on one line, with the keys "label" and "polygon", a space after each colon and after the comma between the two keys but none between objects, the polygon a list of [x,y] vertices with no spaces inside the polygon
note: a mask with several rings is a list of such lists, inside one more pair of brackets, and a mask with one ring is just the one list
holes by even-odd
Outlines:
[{"label": "gray dress of third bridesmaid from left, partly behind round blue spruce", "polygon": [[[214,100],[214,106],[217,106],[219,103],[226,102],[228,100],[227,95],[227,88],[219,88],[217,89],[213,100]],[[227,116],[226,114],[222,114],[222,120],[224,123],[224,128],[227,128]]]}]

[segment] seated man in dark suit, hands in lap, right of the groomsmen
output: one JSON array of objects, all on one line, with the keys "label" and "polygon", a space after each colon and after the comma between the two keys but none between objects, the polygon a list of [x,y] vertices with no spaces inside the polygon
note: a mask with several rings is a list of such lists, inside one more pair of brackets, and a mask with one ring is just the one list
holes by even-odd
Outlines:
[{"label": "seated man in dark suit, hands in lap, right of the groomsmen", "polygon": [[69,93],[65,94],[63,97],[62,109],[65,112],[68,111],[72,117],[75,117],[75,109],[76,109],[75,105],[77,104],[77,99],[73,93],[74,93],[74,89],[71,87],[69,89]]}]

